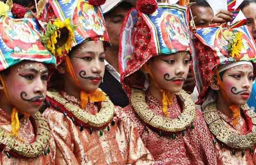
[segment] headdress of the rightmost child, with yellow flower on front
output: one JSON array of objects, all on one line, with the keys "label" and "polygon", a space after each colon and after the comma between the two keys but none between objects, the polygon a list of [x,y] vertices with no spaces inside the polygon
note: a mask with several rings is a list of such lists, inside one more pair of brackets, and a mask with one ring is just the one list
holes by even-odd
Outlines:
[{"label": "headdress of the rightmost child, with yellow flower on front", "polygon": [[206,98],[211,97],[207,96],[209,85],[220,66],[237,61],[250,61],[254,66],[254,76],[256,75],[256,45],[247,26],[198,28],[194,44],[197,53],[193,59],[193,67],[199,89],[198,104],[210,99]]}]

